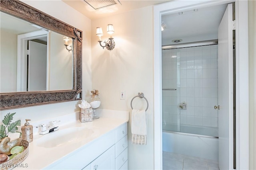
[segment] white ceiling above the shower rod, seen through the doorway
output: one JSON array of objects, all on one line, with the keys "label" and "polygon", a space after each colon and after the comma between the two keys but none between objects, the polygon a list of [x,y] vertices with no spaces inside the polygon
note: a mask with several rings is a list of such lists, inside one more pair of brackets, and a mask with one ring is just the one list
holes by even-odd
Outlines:
[{"label": "white ceiling above the shower rod, seen through the doorway", "polygon": [[227,4],[184,11],[185,14],[162,16],[166,29],[162,31],[162,45],[218,39],[218,26]]}]

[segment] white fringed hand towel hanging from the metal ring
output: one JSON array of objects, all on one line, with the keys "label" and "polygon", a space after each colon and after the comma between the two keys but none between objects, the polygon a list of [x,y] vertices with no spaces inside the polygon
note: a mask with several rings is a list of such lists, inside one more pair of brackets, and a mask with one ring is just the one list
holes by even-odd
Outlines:
[{"label": "white fringed hand towel hanging from the metal ring", "polygon": [[145,110],[132,109],[132,144],[147,144],[147,114]]}]

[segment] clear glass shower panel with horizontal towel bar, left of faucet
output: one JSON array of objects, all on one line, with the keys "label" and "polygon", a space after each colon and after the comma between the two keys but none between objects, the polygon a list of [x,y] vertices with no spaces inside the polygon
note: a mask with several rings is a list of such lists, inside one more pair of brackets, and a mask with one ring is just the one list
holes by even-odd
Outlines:
[{"label": "clear glass shower panel with horizontal towel bar, left of faucet", "polygon": [[162,129],[180,132],[180,52],[162,50]]}]

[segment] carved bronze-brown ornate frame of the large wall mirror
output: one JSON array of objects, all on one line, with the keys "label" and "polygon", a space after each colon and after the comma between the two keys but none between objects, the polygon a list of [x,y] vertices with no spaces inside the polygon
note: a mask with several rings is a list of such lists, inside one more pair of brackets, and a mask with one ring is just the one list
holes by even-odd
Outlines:
[{"label": "carved bronze-brown ornate frame of the large wall mirror", "polygon": [[[82,100],[82,31],[18,0],[1,0],[0,11],[73,39],[73,90],[7,92],[0,110]],[[79,94],[79,95],[78,95]]]}]

